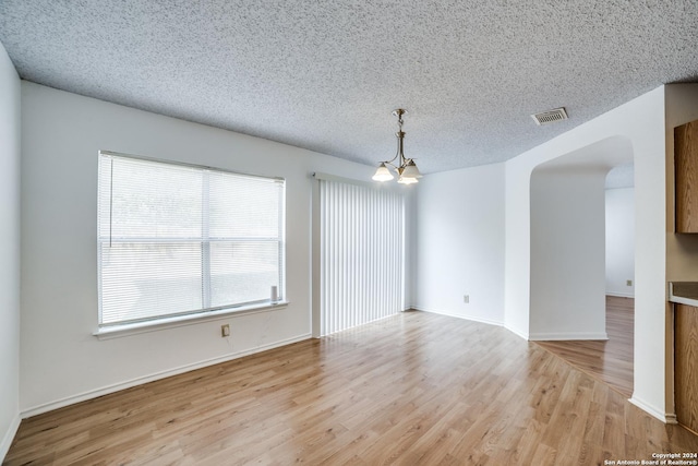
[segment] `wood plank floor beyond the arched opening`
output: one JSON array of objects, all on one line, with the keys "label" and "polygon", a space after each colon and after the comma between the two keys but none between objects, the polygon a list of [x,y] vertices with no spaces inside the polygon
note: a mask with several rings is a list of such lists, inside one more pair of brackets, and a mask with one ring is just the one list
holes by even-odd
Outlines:
[{"label": "wood plank floor beyond the arched opening", "polygon": [[577,369],[633,396],[635,300],[606,296],[607,340],[535,342]]}]

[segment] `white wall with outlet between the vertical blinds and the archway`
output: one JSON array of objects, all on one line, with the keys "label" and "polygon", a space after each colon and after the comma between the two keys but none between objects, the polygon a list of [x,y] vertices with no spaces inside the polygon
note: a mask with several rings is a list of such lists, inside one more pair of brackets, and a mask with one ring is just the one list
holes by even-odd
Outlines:
[{"label": "white wall with outlet between the vertical blinds and the archway", "polygon": [[421,179],[414,216],[416,309],[504,323],[504,181],[503,164]]}]

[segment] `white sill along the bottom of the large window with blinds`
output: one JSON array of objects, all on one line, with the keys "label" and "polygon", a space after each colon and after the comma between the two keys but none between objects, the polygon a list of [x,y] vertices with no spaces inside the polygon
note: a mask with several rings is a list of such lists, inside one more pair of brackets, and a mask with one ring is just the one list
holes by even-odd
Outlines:
[{"label": "white sill along the bottom of the large window with blinds", "polygon": [[220,309],[218,311],[205,312],[201,314],[178,315],[174,318],[158,319],[157,321],[139,322],[123,325],[111,325],[97,328],[93,335],[99,339],[121,338],[123,336],[137,335],[141,333],[159,332],[167,328],[193,325],[202,322],[218,321],[239,315],[250,315],[261,312],[278,311],[288,307],[288,301],[275,303],[243,306],[240,308]]}]

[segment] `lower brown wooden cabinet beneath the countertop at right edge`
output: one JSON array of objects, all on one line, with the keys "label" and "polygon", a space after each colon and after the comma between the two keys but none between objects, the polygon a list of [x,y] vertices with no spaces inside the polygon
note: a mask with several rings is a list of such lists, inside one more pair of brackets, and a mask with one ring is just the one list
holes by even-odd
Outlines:
[{"label": "lower brown wooden cabinet beneath the countertop at right edge", "polygon": [[674,304],[676,420],[698,432],[698,308]]}]

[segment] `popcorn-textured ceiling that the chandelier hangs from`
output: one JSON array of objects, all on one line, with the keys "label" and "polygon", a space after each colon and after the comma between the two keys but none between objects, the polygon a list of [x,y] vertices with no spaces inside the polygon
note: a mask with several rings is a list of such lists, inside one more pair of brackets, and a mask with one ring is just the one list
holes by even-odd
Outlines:
[{"label": "popcorn-textured ceiling that the chandelier hangs from", "polygon": [[423,172],[698,82],[697,0],[0,0],[0,41],[25,80],[370,165],[402,107]]}]

